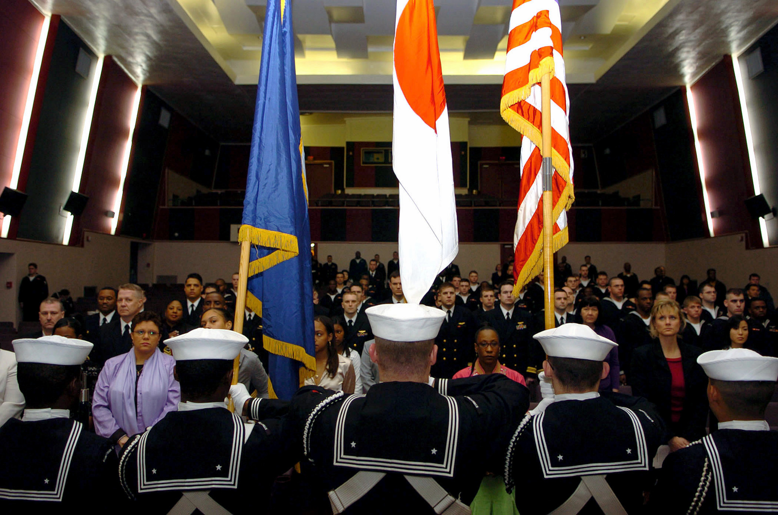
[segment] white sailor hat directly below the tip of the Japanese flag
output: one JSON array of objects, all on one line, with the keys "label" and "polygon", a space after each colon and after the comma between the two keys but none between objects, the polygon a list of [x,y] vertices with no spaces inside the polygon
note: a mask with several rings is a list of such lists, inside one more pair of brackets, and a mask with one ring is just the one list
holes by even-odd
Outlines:
[{"label": "white sailor hat directly below the tip of the Japanese flag", "polygon": [[392,342],[434,340],[446,312],[420,304],[379,304],[365,310],[373,335]]}]

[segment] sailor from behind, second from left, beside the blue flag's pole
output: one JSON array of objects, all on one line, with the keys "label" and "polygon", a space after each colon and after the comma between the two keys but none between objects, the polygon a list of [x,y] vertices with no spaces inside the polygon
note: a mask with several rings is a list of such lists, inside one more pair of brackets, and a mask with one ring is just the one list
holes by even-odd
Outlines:
[{"label": "sailor from behind, second from left, beside the blue flag's pole", "polygon": [[226,408],[233,359],[247,341],[205,328],[166,340],[181,385],[178,411],[128,440],[119,462],[121,485],[138,511],[267,510],[273,481],[294,460],[277,420],[244,424]]}]

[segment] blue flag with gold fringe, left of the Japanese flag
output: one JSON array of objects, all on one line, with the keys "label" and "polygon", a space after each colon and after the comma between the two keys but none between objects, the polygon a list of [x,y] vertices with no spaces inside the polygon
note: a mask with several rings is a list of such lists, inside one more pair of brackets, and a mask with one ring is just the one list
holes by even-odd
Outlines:
[{"label": "blue flag with gold fringe, left of the Japanese flag", "polygon": [[316,372],[308,192],[294,65],[292,5],[268,0],[243,225],[246,305],[262,317],[271,395],[289,399]]}]

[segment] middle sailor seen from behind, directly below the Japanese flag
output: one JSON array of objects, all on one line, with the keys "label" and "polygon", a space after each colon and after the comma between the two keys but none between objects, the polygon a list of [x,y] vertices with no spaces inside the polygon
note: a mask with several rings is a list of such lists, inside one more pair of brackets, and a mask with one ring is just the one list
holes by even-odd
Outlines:
[{"label": "middle sailor seen from behind, directly below the Japanese flag", "polygon": [[[470,513],[485,471],[527,411],[527,388],[503,374],[429,384],[445,313],[418,304],[366,309],[380,383],[364,395],[303,387],[289,417],[303,475],[333,513]],[[237,401],[253,417],[268,401]]]}]

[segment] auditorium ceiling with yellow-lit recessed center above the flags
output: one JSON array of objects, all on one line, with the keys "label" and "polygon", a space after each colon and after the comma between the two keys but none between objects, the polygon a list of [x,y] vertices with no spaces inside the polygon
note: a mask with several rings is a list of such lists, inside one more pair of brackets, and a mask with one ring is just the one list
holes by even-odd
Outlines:
[{"label": "auditorium ceiling with yellow-lit recessed center above the flags", "polygon": [[[34,3],[219,141],[250,137],[265,0]],[[496,110],[510,3],[435,2],[450,110]],[[776,0],[560,6],[574,142],[618,128],[778,20]],[[293,0],[293,20],[301,110],[391,110],[392,0]]]}]

